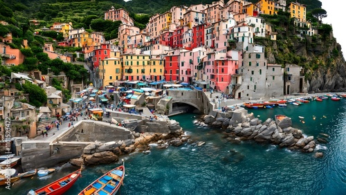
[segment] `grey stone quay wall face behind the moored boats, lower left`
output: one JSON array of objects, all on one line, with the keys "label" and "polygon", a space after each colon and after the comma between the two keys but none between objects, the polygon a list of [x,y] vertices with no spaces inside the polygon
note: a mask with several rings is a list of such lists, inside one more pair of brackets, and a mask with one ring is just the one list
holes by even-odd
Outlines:
[{"label": "grey stone quay wall face behind the moored boats, lower left", "polygon": [[90,142],[23,142],[21,147],[21,167],[29,171],[40,167],[51,168],[78,158]]}]

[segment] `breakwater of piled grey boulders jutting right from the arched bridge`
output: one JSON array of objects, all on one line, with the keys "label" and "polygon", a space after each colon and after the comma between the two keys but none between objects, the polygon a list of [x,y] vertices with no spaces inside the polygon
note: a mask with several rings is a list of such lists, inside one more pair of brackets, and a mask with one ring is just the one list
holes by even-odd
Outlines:
[{"label": "breakwater of piled grey boulders jutting right from the arched bridge", "polygon": [[313,152],[316,147],[313,136],[304,137],[302,130],[291,127],[291,118],[286,117],[280,122],[268,118],[262,122],[244,108],[227,113],[211,111],[195,123],[225,129],[230,141],[255,140],[304,152]]}]

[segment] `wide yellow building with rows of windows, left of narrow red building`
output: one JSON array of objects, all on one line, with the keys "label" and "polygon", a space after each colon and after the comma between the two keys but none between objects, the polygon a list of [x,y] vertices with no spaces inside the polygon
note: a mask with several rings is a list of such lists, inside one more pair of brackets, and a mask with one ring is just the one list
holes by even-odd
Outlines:
[{"label": "wide yellow building with rows of windows, left of narrow red building", "polygon": [[122,55],[124,80],[146,80],[150,77],[150,55]]}]

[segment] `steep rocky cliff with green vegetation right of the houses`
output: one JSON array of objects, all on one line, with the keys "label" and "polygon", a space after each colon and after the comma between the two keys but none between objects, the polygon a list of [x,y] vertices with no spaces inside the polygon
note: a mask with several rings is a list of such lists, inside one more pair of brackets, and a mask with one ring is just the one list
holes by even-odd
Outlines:
[{"label": "steep rocky cliff with green vegetation right of the houses", "polygon": [[266,46],[268,64],[302,66],[309,92],[345,91],[346,63],[331,26],[313,27],[314,35],[310,36],[305,34],[309,28],[295,26],[289,19],[278,23],[273,18],[266,18],[266,23],[277,32],[277,39],[255,38],[256,44]]}]

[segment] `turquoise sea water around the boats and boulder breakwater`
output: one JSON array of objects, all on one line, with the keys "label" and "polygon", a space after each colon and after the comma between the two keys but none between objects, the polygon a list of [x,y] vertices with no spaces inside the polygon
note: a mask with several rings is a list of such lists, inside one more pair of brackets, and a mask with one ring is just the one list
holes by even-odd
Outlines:
[{"label": "turquoise sea water around the boats and boulder breakwater", "polygon": [[[292,118],[293,127],[302,129],[307,136],[322,138],[320,133],[327,133],[329,142],[318,145],[325,154],[323,158],[252,141],[231,143],[223,138],[221,129],[195,126],[194,114],[176,115],[172,119],[181,123],[191,139],[205,141],[206,145],[185,144],[167,149],[153,146],[150,154],[125,156],[125,183],[118,194],[345,194],[345,110],[345,99],[249,110],[262,120],[274,118],[275,114],[287,115]],[[303,116],[305,123],[298,116]],[[86,167],[82,178],[66,194],[78,194],[118,165]],[[26,194],[74,169],[64,165],[49,178],[19,180],[10,191],[0,189],[0,194]]]}]

